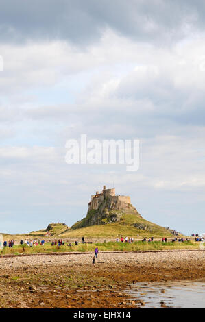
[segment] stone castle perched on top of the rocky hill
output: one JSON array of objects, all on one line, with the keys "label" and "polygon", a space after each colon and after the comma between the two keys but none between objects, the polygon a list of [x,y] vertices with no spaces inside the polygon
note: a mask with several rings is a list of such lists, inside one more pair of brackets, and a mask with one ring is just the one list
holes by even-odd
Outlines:
[{"label": "stone castle perched on top of the rocky hill", "polygon": [[104,186],[100,193],[96,191],[95,195],[91,195],[91,201],[88,203],[88,211],[98,209],[101,203],[106,199],[110,201],[110,205],[114,205],[115,208],[123,208],[123,206],[128,205],[128,203],[131,204],[129,196],[116,196],[114,188],[106,189],[106,186]]}]

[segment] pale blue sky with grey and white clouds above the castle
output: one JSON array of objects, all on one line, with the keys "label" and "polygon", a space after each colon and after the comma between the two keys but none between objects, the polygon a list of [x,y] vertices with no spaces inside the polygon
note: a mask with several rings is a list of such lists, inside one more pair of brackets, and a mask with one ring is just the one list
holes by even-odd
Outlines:
[{"label": "pale blue sky with grey and white clouds above the castle", "polygon": [[[203,0],[0,0],[0,231],[71,226],[115,184],[143,217],[205,232]],[[65,143],[139,139],[136,172]]]}]

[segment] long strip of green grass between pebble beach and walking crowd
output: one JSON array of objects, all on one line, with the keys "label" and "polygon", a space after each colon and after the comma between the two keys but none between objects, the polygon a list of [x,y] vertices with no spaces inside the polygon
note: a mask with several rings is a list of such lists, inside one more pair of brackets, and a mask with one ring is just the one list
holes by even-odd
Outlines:
[{"label": "long strip of green grass between pebble beach and walking crowd", "polygon": [[51,246],[51,243],[46,243],[44,246],[38,245],[29,247],[27,245],[14,245],[14,247],[3,247],[3,250],[0,252],[1,255],[6,254],[29,254],[29,253],[51,253],[51,252],[69,252],[69,251],[79,251],[86,252],[92,251],[94,252],[95,247],[99,248],[100,251],[147,251],[147,250],[163,250],[163,249],[199,249],[199,243],[195,241],[184,241],[183,243],[162,243],[161,241],[153,241],[153,242],[142,242],[136,241],[132,244],[130,243],[121,243],[117,242],[108,242],[108,243],[95,243],[95,244],[80,244],[73,245],[69,247],[67,245],[62,245],[60,247]]}]

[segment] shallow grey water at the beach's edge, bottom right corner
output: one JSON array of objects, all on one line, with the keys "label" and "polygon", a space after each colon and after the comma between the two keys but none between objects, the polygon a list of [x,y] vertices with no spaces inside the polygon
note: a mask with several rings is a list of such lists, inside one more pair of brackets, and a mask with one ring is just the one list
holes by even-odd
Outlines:
[{"label": "shallow grey water at the beach's edge, bottom right corner", "polygon": [[128,293],[142,308],[205,308],[205,280],[136,283]]}]

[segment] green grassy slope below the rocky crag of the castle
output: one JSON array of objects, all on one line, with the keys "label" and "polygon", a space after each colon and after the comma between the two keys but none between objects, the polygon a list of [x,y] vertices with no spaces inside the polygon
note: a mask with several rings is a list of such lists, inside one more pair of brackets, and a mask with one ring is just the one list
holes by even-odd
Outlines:
[{"label": "green grassy slope below the rocky crag of the castle", "polygon": [[61,237],[117,237],[121,235],[135,236],[138,238],[151,236],[154,238],[162,238],[173,236],[171,232],[164,227],[146,221],[142,217],[136,216],[136,214],[123,214],[121,220],[117,221],[117,223],[70,229],[63,232]]}]

